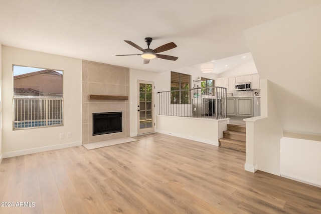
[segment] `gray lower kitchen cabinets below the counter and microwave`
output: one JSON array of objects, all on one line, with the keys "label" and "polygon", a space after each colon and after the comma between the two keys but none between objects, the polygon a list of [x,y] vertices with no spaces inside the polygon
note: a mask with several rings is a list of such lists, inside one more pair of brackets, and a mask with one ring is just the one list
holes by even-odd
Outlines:
[{"label": "gray lower kitchen cabinets below the counter and microwave", "polygon": [[260,116],[259,97],[228,97],[226,99],[226,115],[237,117]]}]

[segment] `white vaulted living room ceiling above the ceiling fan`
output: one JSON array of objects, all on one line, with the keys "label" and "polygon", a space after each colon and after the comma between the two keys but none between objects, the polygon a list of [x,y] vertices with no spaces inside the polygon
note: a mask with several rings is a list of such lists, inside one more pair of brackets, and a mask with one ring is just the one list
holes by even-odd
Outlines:
[{"label": "white vaulted living room ceiling above the ceiling fan", "polygon": [[[139,70],[164,72],[249,52],[243,30],[319,4],[319,0],[2,0],[0,43]],[[174,42],[142,64],[129,40],[151,49]]]}]

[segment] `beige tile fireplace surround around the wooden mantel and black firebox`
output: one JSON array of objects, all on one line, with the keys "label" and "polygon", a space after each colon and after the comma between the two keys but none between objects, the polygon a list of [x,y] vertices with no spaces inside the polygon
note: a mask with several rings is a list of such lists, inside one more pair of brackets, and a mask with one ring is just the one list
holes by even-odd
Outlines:
[{"label": "beige tile fireplace surround around the wooden mantel and black firebox", "polygon": [[[88,100],[88,95],[128,96],[128,100]],[[122,112],[122,132],[92,135],[92,114]],[[129,137],[129,68],[82,61],[82,142]]]}]

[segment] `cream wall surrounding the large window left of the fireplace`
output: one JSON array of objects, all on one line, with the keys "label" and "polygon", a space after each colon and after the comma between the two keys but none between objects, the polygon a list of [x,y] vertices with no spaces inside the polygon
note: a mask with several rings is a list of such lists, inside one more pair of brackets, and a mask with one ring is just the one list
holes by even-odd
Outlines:
[{"label": "cream wall surrounding the large window left of the fireplace", "polygon": [[[81,60],[3,46],[2,62],[4,157],[81,145]],[[13,65],[64,71],[64,126],[13,131]]]}]

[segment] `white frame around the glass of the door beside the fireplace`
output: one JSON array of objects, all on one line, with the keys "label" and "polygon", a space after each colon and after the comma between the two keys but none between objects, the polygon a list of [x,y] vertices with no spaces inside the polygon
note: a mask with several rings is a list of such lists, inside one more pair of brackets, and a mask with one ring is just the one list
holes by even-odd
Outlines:
[{"label": "white frame around the glass of the door beside the fireplace", "polygon": [[[152,118],[152,127],[140,129],[140,116],[139,116],[139,86],[140,84],[151,84],[152,92],[151,92],[151,118]],[[136,118],[137,118],[137,135],[147,134],[155,131],[155,99],[154,99],[154,82],[146,81],[146,80],[137,80],[137,105],[136,105]]]}]

